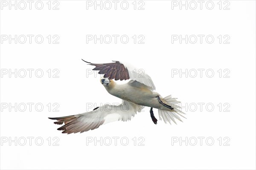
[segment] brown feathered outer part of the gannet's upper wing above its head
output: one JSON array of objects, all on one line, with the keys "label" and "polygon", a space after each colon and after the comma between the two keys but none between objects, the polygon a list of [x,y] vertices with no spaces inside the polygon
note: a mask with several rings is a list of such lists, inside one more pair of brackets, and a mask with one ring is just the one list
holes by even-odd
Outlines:
[{"label": "brown feathered outer part of the gannet's upper wing above its head", "polygon": [[114,61],[111,63],[103,63],[103,64],[94,64],[91,62],[87,62],[87,63],[89,63],[89,65],[94,65],[95,68],[93,68],[93,70],[99,71],[99,74],[104,74],[104,78],[108,77],[109,79],[115,79],[115,80],[130,79],[127,68],[119,61]]}]

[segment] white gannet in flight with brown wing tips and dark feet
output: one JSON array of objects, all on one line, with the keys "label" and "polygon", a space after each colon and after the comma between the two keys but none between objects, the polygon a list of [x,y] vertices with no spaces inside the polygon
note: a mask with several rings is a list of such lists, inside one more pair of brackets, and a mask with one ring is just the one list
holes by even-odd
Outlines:
[{"label": "white gannet in flight with brown wing tips and dark feet", "polygon": [[[158,109],[159,118],[165,123],[174,122],[176,124],[175,119],[182,122],[179,116],[184,117],[182,114],[185,113],[179,110],[180,107],[177,105],[179,102],[176,98],[172,98],[171,95],[163,98],[155,92],[151,77],[144,72],[141,73],[119,61],[104,64],[87,63],[96,66],[93,70],[99,71],[99,74],[104,74],[100,82],[109,94],[122,99],[122,103],[120,105],[102,105],[93,111],[72,116],[49,118],[57,120],[54,122],[57,125],[64,123],[58,128],[58,130],[63,130],[62,133],[82,133],[109,122],[119,120],[126,122],[145,106],[150,107],[150,116],[154,124],[157,124],[157,119],[154,116],[153,108]],[[113,79],[131,80],[125,84],[117,84]]]}]

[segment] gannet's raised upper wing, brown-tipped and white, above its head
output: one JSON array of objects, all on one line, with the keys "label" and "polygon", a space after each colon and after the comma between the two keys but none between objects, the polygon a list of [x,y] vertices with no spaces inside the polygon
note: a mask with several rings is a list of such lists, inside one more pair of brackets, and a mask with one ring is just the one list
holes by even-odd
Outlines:
[{"label": "gannet's raised upper wing, brown-tipped and white, above its head", "polygon": [[[83,59],[82,59],[83,60]],[[84,61],[84,60],[83,60]],[[84,61],[86,62],[86,61]],[[93,70],[99,71],[99,74],[104,74],[104,78],[115,80],[127,80],[132,79],[137,82],[147,85],[152,90],[155,90],[154,83],[148,74],[145,74],[143,69],[135,69],[131,65],[121,63],[119,61],[113,61],[111,63],[94,64],[87,62],[89,65],[94,65]]]}]

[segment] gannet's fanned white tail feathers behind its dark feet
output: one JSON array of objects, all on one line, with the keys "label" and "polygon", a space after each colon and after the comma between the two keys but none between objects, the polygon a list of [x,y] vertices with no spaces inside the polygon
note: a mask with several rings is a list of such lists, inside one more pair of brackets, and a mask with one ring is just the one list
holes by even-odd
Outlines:
[{"label": "gannet's fanned white tail feathers behind its dark feet", "polygon": [[164,110],[158,109],[158,114],[159,114],[160,120],[163,120],[165,123],[169,122],[171,124],[171,121],[172,121],[175,124],[177,124],[175,122],[175,119],[182,122],[182,120],[180,119],[180,116],[186,119],[186,117],[183,116],[183,114],[185,114],[185,113],[180,111],[180,106],[177,105],[180,102],[178,102],[176,99],[177,98],[172,98],[172,95],[166,96],[165,98],[162,99],[162,101],[164,103],[171,106],[173,109],[170,111],[164,111]]}]

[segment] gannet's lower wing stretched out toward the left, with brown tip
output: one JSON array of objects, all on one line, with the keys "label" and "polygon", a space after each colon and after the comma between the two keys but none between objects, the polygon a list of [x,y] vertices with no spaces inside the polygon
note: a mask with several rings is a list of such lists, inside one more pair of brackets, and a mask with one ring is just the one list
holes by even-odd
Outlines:
[{"label": "gannet's lower wing stretched out toward the left, with brown tip", "polygon": [[100,125],[122,120],[124,122],[131,120],[133,116],[143,107],[134,103],[123,101],[120,105],[103,105],[95,108],[93,111],[81,113],[73,116],[49,118],[57,120],[54,122],[59,127],[57,130],[63,130],[62,133],[82,133],[88,130],[98,128]]}]

